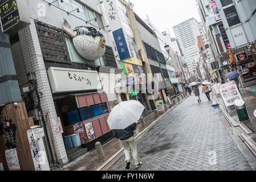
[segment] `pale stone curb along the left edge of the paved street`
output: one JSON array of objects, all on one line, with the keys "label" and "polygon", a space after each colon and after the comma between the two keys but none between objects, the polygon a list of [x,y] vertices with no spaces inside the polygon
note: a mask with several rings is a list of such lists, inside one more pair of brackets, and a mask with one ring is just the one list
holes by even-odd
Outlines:
[{"label": "pale stone curb along the left edge of the paved street", "polygon": [[[183,100],[181,100],[180,102],[178,102],[178,104],[176,104],[175,106],[173,106],[172,108],[170,108],[168,111],[166,111],[163,115],[161,115],[161,117],[157,118],[154,122],[151,123],[151,125],[149,125],[147,128],[145,128],[143,131],[141,131],[136,137],[136,141],[140,140],[145,134],[147,134],[147,132],[152,129],[152,127],[154,127],[159,120],[164,117],[167,113],[169,113],[170,111],[172,111],[173,109],[175,109],[178,105],[180,105],[184,100],[186,100],[189,96],[186,96]],[[113,156],[111,156],[111,158],[109,158],[106,162],[104,162],[103,164],[101,164],[101,166],[97,169],[95,169],[95,171],[101,171],[104,170],[106,171],[108,168],[110,168],[112,166],[111,163],[115,163],[117,160],[119,160],[121,158],[121,156],[123,156],[123,151],[124,148],[121,148],[119,151],[117,151]],[[111,164],[111,165],[109,165]]]}]

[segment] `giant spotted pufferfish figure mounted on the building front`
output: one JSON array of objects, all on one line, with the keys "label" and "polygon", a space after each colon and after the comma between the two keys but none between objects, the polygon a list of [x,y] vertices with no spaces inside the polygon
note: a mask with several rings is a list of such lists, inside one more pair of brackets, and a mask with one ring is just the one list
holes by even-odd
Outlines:
[{"label": "giant spotted pufferfish figure mounted on the building front", "polygon": [[72,38],[76,51],[86,60],[94,61],[105,53],[105,38],[94,27],[80,26],[73,30],[64,19],[64,32]]}]

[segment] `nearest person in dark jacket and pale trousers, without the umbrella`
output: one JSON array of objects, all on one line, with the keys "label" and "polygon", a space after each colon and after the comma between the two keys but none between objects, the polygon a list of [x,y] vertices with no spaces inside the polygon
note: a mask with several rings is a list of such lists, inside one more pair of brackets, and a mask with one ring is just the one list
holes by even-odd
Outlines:
[{"label": "nearest person in dark jacket and pale trousers, without the umbrella", "polygon": [[126,169],[129,169],[131,165],[130,152],[132,152],[132,158],[134,160],[135,167],[139,168],[141,166],[137,150],[137,143],[135,138],[133,137],[133,131],[136,130],[136,127],[136,123],[133,123],[124,130],[113,130],[113,137],[120,139],[121,143],[123,144]]}]

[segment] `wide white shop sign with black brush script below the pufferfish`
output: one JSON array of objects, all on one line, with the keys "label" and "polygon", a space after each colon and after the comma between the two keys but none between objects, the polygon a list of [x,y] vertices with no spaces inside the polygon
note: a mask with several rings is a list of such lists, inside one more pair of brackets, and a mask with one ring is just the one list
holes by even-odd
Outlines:
[{"label": "wide white shop sign with black brush script below the pufferfish", "polygon": [[52,93],[102,89],[97,71],[50,67],[47,73]]}]

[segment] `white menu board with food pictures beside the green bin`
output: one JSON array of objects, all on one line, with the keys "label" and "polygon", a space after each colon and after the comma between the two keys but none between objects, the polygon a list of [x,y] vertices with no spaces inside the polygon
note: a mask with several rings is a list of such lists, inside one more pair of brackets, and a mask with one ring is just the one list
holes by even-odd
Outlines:
[{"label": "white menu board with food pictures beside the green bin", "polygon": [[218,89],[226,107],[234,105],[234,101],[236,100],[243,100],[234,81],[222,84],[218,86]]}]

